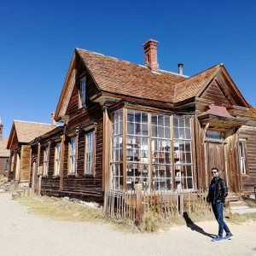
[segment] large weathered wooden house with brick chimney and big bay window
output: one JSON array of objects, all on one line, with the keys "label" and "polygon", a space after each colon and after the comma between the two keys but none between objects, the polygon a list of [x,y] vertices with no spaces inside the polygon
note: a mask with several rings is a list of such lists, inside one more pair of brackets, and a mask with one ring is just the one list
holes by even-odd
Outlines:
[{"label": "large weathered wooden house with brick chimney and big bay window", "polygon": [[44,195],[102,201],[107,189],[207,189],[218,167],[231,192],[256,184],[256,111],[223,64],[192,77],[75,49],[55,111],[63,126],[31,143],[30,183]]}]

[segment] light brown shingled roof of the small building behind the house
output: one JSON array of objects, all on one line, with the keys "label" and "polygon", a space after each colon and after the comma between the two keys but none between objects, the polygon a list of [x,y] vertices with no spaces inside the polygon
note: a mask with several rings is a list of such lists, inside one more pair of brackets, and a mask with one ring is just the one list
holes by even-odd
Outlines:
[{"label": "light brown shingled roof of the small building behind the house", "polygon": [[55,129],[55,127],[56,125],[51,124],[14,120],[7,147],[10,147],[15,134],[19,143],[29,143],[35,137],[43,135],[44,133]]}]

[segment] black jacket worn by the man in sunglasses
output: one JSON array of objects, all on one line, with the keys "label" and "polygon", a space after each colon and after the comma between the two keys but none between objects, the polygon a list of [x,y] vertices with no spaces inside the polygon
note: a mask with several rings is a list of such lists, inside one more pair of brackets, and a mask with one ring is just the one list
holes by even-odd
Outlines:
[{"label": "black jacket worn by the man in sunglasses", "polygon": [[[212,183],[215,183],[215,189],[213,193],[213,198],[210,198],[210,189],[212,186]],[[211,185],[209,187],[209,193],[207,195],[207,202],[212,202],[212,204],[218,204],[220,202],[225,202],[225,197],[228,195],[228,188],[227,184],[225,183],[224,179],[221,177],[213,177]]]}]

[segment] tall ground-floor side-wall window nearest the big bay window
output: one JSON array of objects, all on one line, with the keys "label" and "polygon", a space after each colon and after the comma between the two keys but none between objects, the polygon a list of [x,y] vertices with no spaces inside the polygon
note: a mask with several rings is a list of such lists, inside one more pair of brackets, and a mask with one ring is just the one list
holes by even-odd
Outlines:
[{"label": "tall ground-floor side-wall window nearest the big bay window", "polygon": [[[91,135],[91,137],[90,137]],[[95,176],[95,163],[96,163],[96,132],[95,130],[86,132],[84,134],[84,176]],[[89,144],[90,143],[90,144]],[[90,145],[90,148],[89,148]],[[90,152],[89,152],[90,149]],[[88,155],[90,154],[90,161]],[[90,165],[90,172],[88,166]]]}]

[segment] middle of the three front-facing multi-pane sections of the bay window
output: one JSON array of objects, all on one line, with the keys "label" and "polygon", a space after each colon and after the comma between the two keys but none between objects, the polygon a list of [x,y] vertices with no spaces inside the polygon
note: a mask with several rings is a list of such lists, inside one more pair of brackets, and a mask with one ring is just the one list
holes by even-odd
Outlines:
[{"label": "middle of the three front-facing multi-pane sections of the bay window", "polygon": [[170,190],[172,189],[170,116],[152,113],[151,127],[153,188]]}]

